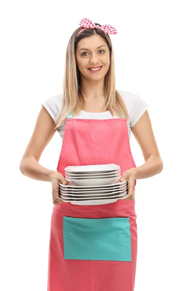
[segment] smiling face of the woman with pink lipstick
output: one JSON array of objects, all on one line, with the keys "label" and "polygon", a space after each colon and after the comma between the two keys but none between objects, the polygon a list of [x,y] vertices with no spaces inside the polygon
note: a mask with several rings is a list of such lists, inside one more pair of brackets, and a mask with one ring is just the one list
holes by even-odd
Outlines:
[{"label": "smiling face of the woman with pink lipstick", "polygon": [[[81,77],[95,81],[105,77],[110,66],[110,54],[106,42],[99,34],[81,39],[75,53]],[[89,67],[100,66],[102,67],[99,71],[89,70]]]}]

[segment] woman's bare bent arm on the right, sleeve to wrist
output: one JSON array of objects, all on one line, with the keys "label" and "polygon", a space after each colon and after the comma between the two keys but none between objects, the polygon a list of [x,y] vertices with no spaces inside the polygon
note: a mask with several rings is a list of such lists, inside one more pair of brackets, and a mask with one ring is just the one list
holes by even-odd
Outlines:
[{"label": "woman's bare bent arm on the right, sleeve to wrist", "polygon": [[163,169],[163,162],[147,110],[131,128],[131,131],[141,147],[144,160],[146,161],[143,165],[130,169],[134,173],[134,178],[144,179],[159,174]]}]

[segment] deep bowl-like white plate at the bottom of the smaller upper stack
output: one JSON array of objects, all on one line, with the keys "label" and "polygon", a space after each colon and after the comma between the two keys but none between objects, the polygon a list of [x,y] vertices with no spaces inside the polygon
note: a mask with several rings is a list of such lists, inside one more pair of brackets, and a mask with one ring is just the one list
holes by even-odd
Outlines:
[{"label": "deep bowl-like white plate at the bottom of the smaller upper stack", "polygon": [[[117,179],[117,182],[119,181],[119,176]],[[84,179],[84,180],[77,180],[77,179],[69,179],[66,178],[67,181],[71,181],[74,184],[78,186],[98,186],[98,185],[109,185],[115,180],[115,177],[113,178],[103,178],[103,179]]]}]

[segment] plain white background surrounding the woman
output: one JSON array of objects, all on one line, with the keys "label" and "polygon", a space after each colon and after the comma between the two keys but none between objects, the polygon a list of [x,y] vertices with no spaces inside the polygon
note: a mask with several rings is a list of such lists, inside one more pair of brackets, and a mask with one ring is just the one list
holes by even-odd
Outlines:
[{"label": "plain white background surrounding the woman", "polygon": [[[149,104],[163,161],[159,175],[137,180],[135,291],[194,290],[192,2],[1,3],[0,290],[47,291],[51,183],[23,176],[19,163],[41,103],[62,93],[66,46],[83,17],[117,29],[116,88]],[[130,143],[140,166],[133,135]],[[40,164],[56,170],[61,145],[56,132]]]}]

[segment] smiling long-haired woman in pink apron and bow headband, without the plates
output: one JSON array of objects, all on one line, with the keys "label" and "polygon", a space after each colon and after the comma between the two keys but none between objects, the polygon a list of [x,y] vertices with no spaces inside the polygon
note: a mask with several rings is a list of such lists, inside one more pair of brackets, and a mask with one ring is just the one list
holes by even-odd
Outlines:
[{"label": "smiling long-haired woman in pink apron and bow headband, without the plates", "polygon": [[[159,174],[163,164],[148,105],[131,92],[115,89],[109,36],[117,33],[115,28],[87,18],[80,25],[67,46],[63,94],[42,104],[20,170],[52,185],[48,291],[133,291],[136,179]],[[56,130],[63,144],[57,171],[52,171],[39,159]],[[130,151],[131,130],[146,161],[139,167]],[[128,182],[126,199],[91,206],[61,200],[59,184],[68,184],[66,166],[107,163],[120,165],[120,181]]]}]

